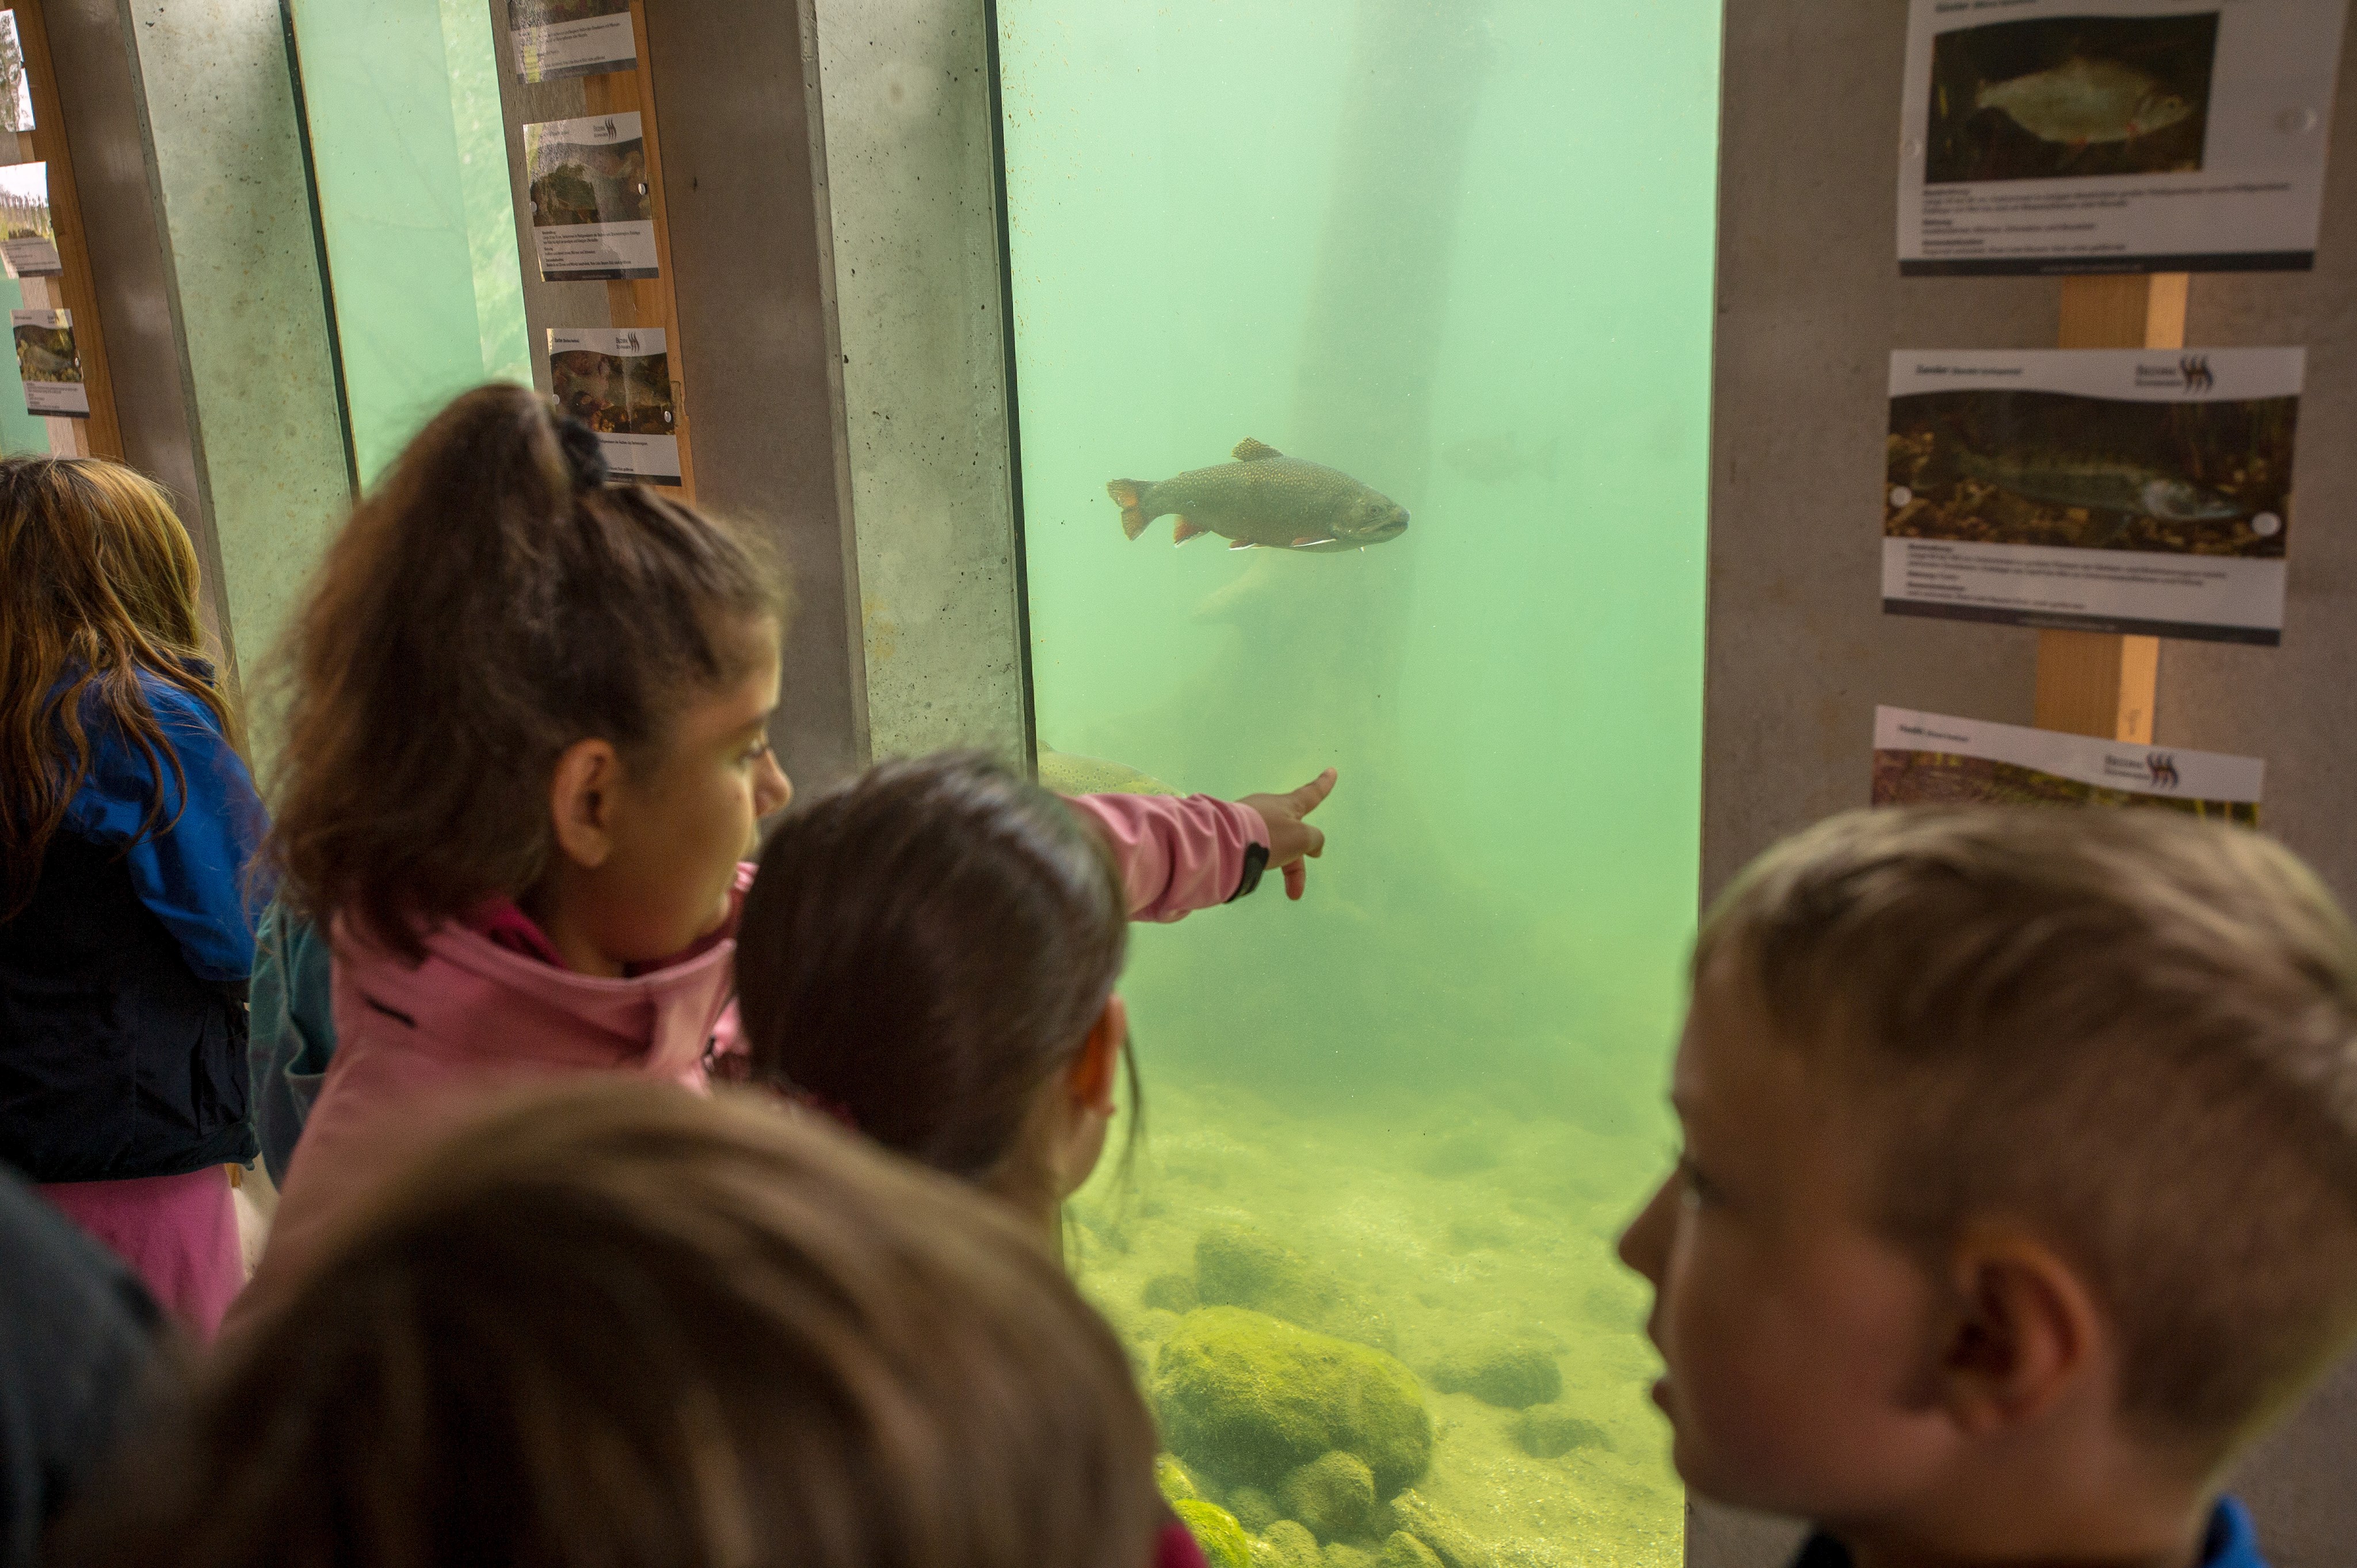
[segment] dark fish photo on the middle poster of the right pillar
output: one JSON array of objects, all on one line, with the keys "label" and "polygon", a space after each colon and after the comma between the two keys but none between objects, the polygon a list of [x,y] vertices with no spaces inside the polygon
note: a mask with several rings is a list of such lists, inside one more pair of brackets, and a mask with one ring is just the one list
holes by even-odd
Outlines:
[{"label": "dark fish photo on the middle poster of the right pillar", "polygon": [[2048,391],[1893,398],[1883,534],[2275,558],[2291,532],[2298,407]]}]

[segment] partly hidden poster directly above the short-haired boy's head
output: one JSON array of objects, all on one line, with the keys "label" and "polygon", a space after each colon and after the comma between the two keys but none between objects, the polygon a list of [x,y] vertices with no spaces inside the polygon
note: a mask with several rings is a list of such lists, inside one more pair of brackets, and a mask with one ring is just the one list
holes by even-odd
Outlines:
[{"label": "partly hidden poster directly above the short-haired boy's head", "polygon": [[2265,775],[2251,756],[1874,709],[1874,805],[2164,805],[2258,826]]}]

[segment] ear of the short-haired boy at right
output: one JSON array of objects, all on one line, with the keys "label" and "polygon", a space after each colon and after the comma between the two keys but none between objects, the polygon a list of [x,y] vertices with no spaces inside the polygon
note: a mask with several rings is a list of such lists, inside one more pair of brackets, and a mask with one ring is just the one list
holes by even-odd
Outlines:
[{"label": "ear of the short-haired boy at right", "polygon": [[1940,1347],[1940,1403],[1966,1434],[2046,1415],[2084,1389],[2105,1354],[2095,1297],[2044,1241],[1968,1231],[1954,1250],[1954,1316]]}]

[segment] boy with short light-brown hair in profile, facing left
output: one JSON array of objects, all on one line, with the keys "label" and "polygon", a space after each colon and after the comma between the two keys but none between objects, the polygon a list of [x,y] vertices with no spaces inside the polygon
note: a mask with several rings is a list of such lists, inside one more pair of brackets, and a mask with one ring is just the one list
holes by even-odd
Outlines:
[{"label": "boy with short light-brown hair in profile, facing left", "polygon": [[2178,812],[1883,810],[1704,921],[1622,1236],[1688,1486],[1805,1568],[2253,1568],[2230,1462],[2357,1330],[2357,932]]}]

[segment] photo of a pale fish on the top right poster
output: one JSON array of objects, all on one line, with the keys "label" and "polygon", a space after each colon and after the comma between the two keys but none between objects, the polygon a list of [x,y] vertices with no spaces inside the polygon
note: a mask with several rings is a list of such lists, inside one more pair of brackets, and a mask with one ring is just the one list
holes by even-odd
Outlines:
[{"label": "photo of a pale fish on the top right poster", "polygon": [[2048,16],[1940,33],[1923,179],[2192,174],[2218,14]]}]

